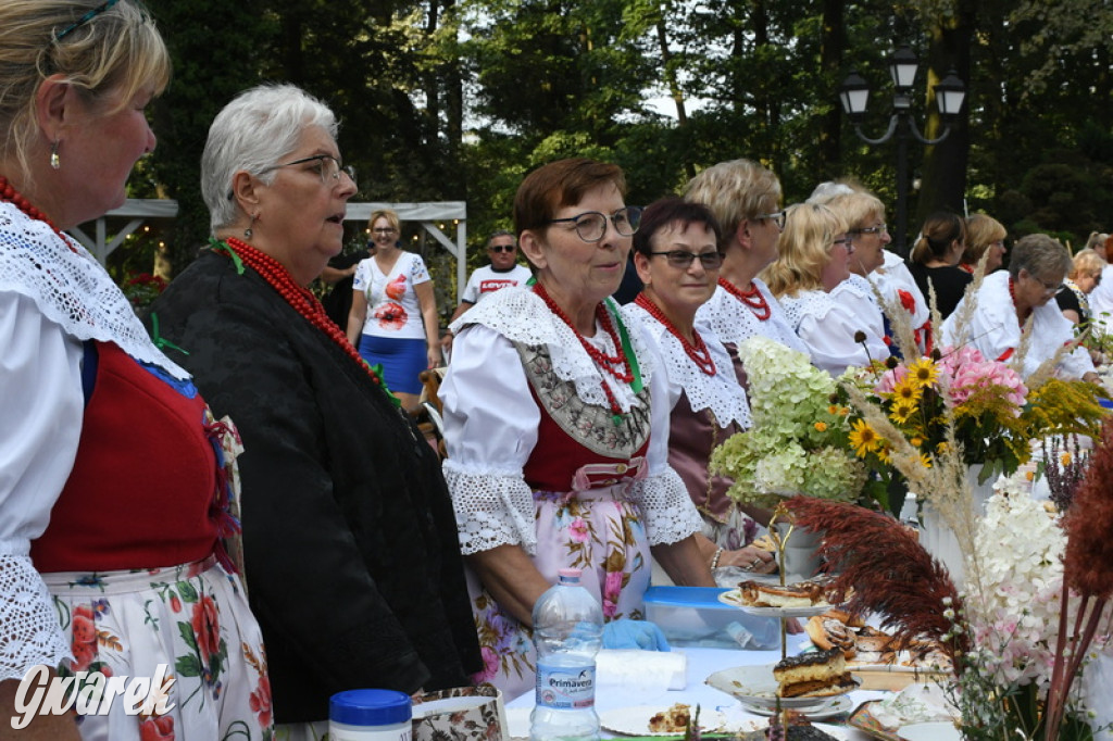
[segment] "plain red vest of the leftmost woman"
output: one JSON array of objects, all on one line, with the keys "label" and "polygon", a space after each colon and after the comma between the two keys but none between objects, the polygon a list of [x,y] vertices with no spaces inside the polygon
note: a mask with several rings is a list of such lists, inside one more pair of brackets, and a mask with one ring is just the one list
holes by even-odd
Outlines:
[{"label": "plain red vest of the leftmost woman", "polygon": [[208,556],[217,464],[205,401],[191,383],[164,379],[116,345],[96,347],[77,460],[31,543],[36,569],[117,571]]}]

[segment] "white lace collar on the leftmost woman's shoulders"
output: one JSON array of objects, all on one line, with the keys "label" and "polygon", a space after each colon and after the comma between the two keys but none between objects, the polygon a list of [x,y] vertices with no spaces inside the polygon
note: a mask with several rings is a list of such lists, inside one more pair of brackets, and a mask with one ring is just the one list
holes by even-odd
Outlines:
[{"label": "white lace collar on the leftmost woman's shoulders", "polygon": [[114,343],[179,381],[189,377],[155,347],[127,297],[85,247],[6,201],[0,202],[0,290],[27,296],[76,339]]}]

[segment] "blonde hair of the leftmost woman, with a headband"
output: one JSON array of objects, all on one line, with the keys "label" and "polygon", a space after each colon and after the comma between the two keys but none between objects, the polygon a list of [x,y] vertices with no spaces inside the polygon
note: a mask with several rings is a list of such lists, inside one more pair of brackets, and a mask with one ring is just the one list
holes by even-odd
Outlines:
[{"label": "blonde hair of the leftmost woman, with a headband", "polygon": [[24,178],[30,178],[28,152],[39,136],[36,95],[48,77],[61,75],[91,103],[119,90],[121,106],[142,88],[151,87],[157,95],[170,81],[170,57],[147,11],[135,0],[118,0],[79,22],[100,4],[101,0],[0,2],[2,152],[19,162]]}]

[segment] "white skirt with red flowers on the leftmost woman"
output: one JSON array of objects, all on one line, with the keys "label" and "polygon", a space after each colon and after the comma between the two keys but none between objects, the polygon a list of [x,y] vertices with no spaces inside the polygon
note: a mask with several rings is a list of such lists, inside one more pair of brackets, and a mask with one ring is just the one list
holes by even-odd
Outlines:
[{"label": "white skirt with red flowers on the leftmost woman", "polygon": [[166,664],[162,715],[78,715],[86,741],[224,741],[273,735],[270,683],[263,636],[239,577],[215,556],[136,572],[43,574],[75,662],[87,671],[154,678]]}]

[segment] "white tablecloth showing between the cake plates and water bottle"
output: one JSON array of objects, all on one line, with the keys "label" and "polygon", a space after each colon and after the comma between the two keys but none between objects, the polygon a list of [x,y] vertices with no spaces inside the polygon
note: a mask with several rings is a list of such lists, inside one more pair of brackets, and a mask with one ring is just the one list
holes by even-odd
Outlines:
[{"label": "white tablecloth showing between the cake plates and water bottle", "polygon": [[[788,654],[799,653],[800,644],[807,640],[804,634],[788,636]],[[742,666],[748,664],[771,664],[780,661],[780,650],[776,651],[731,651],[726,649],[673,649],[683,652],[688,656],[688,681],[683,690],[666,690],[660,684],[649,686],[648,683],[641,686],[621,686],[608,683],[605,678],[599,678],[599,686],[595,692],[595,710],[604,713],[608,710],[618,708],[629,708],[632,705],[659,705],[664,710],[677,702],[683,702],[695,708],[700,705],[702,710],[718,710],[725,713],[728,720],[756,721],[765,723],[766,719],[742,710],[741,704],[729,694],[720,692],[705,684],[705,680],[717,671]],[[858,691],[851,692],[849,698],[853,707],[857,708],[867,700],[876,700],[885,696],[885,692]],[[529,711],[533,708],[533,693],[515,698],[506,703],[508,717],[512,737],[529,735]],[[831,722],[831,721],[818,721]],[[864,741],[869,739],[867,734],[857,729],[848,728],[847,739],[851,741]],[[605,730],[603,738],[613,738]]]}]

